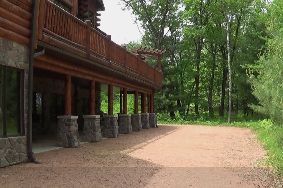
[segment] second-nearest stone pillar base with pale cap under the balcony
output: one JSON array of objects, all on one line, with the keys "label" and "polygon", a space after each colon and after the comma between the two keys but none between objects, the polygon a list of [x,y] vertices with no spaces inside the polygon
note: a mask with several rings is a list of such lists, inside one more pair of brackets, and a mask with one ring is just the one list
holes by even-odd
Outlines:
[{"label": "second-nearest stone pillar base with pale cap under the balcony", "polygon": [[100,115],[85,115],[83,116],[83,139],[85,142],[100,142],[101,127]]}]

